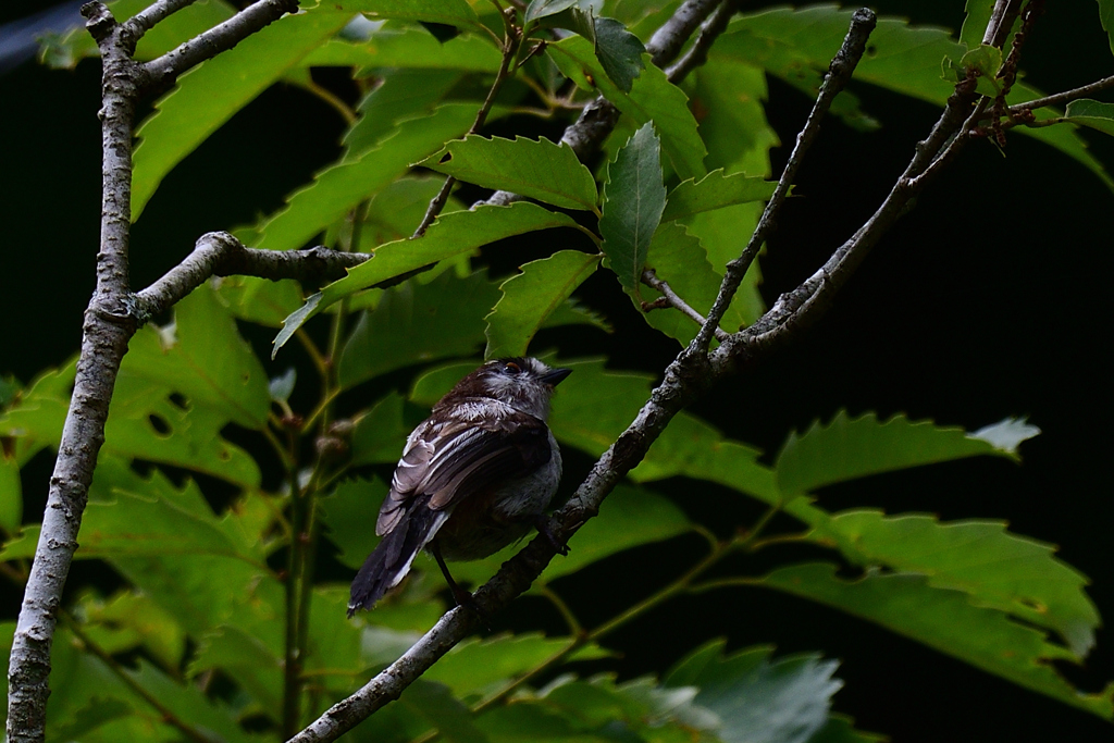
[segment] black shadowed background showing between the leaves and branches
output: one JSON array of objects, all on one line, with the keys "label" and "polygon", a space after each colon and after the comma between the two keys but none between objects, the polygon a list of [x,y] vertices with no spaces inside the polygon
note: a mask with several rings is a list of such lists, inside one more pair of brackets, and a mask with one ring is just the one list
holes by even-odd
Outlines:
[{"label": "black shadowed background showing between the leaves and branches", "polygon": [[[749,7],[759,4],[765,3]],[[957,28],[962,4],[891,0],[872,7]],[[1111,75],[1114,57],[1095,3],[1048,6],[1026,48],[1027,80],[1052,92]],[[4,0],[0,23],[46,7]],[[868,86],[854,89],[883,129],[859,134],[836,121],[824,125],[762,261],[768,302],[811,274],[862,223],[938,114]],[[809,105],[771,81],[769,116],[782,141],[793,140]],[[79,344],[98,234],[98,106],[94,61],[70,72],[23,63],[0,75],[0,374],[23,382],[62,363]],[[277,207],[335,157],[341,131],[335,114],[315,99],[281,87],[265,92],[165,180],[134,232],[133,285],[150,283],[202,233]],[[1084,136],[1114,169],[1111,140],[1091,134]],[[785,155],[784,148],[774,150],[775,172]],[[1026,414],[1044,433],[1023,444],[1022,466],[986,459],[879,476],[829,488],[821,505],[1006,519],[1016,532],[1059,545],[1061,557],[1093,579],[1089,594],[1100,612],[1114,616],[1112,212],[1111,192],[1058,153],[1019,135],[1010,136],[1005,156],[976,143],[881,242],[820,323],[775,359],[714,390],[696,412],[768,452],[790,430],[830,419],[841,408],[883,418],[903,412],[967,429]],[[496,267],[507,260],[489,257]],[[659,371],[675,344],[646,330],[613,284],[595,277],[585,299],[608,313],[618,333],[543,340],[567,354],[583,355],[587,346],[612,353],[617,366]],[[568,459],[565,487],[571,488],[590,462],[575,453]],[[48,476],[48,461],[26,473],[29,520],[39,518]],[[684,508],[712,525],[755,514],[704,483],[666,485]],[[674,547],[608,560],[558,587],[590,624],[644,596],[698,549]],[[81,576],[75,573],[75,579]],[[0,615],[13,617],[18,596],[7,592],[2,599]],[[522,599],[499,626],[539,622],[554,620],[548,609]],[[1111,725],[1083,712],[772,593],[677,600],[608,644],[624,652],[617,667],[633,676],[663,672],[716,636],[726,636],[732,647],[771,643],[779,653],[819,649],[840,658],[838,674],[847,686],[836,696],[837,708],[854,715],[861,729],[896,741],[1111,740]],[[1110,632],[1100,630],[1084,668],[1066,673],[1089,691],[1114,678]]]}]

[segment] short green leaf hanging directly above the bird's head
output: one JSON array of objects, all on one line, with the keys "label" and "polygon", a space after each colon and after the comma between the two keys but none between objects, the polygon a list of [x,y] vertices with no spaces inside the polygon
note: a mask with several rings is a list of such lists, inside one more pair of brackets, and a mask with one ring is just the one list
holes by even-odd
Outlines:
[{"label": "short green leaf hanging directly above the bird's head", "polygon": [[599,265],[599,255],[558,251],[531,261],[499,285],[502,297],[487,321],[487,359],[526,354],[534,334]]}]

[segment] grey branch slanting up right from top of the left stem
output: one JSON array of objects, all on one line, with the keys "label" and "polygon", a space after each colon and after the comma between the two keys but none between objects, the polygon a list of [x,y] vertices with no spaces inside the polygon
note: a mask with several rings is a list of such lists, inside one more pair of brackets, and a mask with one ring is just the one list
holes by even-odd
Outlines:
[{"label": "grey branch slanting up right from top of the left stem", "polygon": [[[180,0],[166,0],[180,2]],[[165,90],[179,75],[206,59],[232,49],[260,29],[278,20],[283,13],[297,11],[299,0],[257,0],[223,23],[172,49],[143,66],[146,84],[154,90]]]}]

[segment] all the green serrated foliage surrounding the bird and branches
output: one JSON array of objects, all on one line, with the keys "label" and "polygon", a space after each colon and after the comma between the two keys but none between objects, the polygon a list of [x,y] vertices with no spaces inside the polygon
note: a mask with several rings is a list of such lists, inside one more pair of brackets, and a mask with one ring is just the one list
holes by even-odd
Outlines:
[{"label": "all the green serrated foliage surrounding the bird and branches", "polygon": [[[114,8],[127,14],[141,4],[120,0]],[[489,358],[540,354],[544,346],[534,342],[540,329],[606,327],[570,299],[600,267],[652,326],[681,343],[693,338],[690,319],[646,309],[656,292],[642,285],[643,271],[653,268],[697,312],[707,312],[727,257],[745,236],[740,225],[750,221],[753,227],[746,209],[773,190],[764,177],[776,137],[760,102],[763,75],[814,91],[847,13],[820,6],[740,16],[710,65],[678,87],[649,63],[623,22],[602,14],[631,13],[635,3],[612,4],[529,3],[529,53],[514,60],[514,75],[526,85],[504,91],[491,111],[494,118],[522,109],[560,118],[570,101],[605,96],[626,128],[613,135],[596,174],[569,147],[545,138],[467,134],[500,61],[504,26],[487,3],[320,3],[205,62],[158,101],[139,130],[135,218],[175,165],[266,87],[286,80],[317,94],[311,68],[348,68],[368,95],[348,111],[345,151],[283,208],[238,234],[270,250],[324,239],[373,257],[307,297],[289,285],[214,282],[179,303],[168,324],[148,326],[133,340],[77,553],[78,559],[101,560],[125,585],[108,595],[89,589],[63,610],[51,737],[274,740],[284,683],[285,691],[291,684],[284,668],[292,662],[297,717],[313,718],[398,657],[440,614],[437,576],[420,558],[421,575],[373,613],[346,620],[345,587],[315,580],[312,556],[328,550],[341,565],[359,566],[374,546],[368,515],[385,493],[383,478],[401,441],[479,361],[485,343]],[[1100,7],[1108,21],[1110,3]],[[351,23],[361,12],[377,22]],[[138,53],[159,53],[198,23],[228,13],[218,0],[195,3],[162,25],[162,36],[148,36]],[[459,33],[436,41],[419,22],[455,26]],[[575,33],[543,43],[553,28]],[[897,19],[883,20],[872,43],[876,51],[858,74],[862,80],[934,102],[951,88],[939,72],[942,60],[945,72],[958,77],[996,66],[980,47],[968,50],[944,31]],[[72,65],[95,50],[77,33],[50,40],[46,52],[48,61]],[[746,86],[754,95],[732,92]],[[1036,94],[1018,86],[1015,95],[1024,101]],[[694,99],[706,109],[700,120]],[[1108,109],[1077,101],[1066,117],[1108,134]],[[850,96],[836,113],[857,126],[877,125]],[[744,131],[729,138],[723,133],[733,123]],[[1102,172],[1073,131],[1036,131]],[[428,170],[540,204],[453,204],[424,236],[409,239],[440,183]],[[717,223],[721,217],[726,222]],[[522,261],[510,277],[492,278],[471,261],[481,248],[510,250],[501,241],[525,235],[528,242],[548,229],[561,231],[565,248]],[[761,302],[756,281],[744,284],[724,329],[752,322]],[[331,327],[326,344],[309,332],[317,315],[326,316],[314,323]],[[290,352],[282,349],[296,338],[310,350],[321,390],[309,390],[295,374],[268,384],[266,360],[241,336],[237,321],[272,330],[282,324],[274,352]],[[560,363],[575,373],[555,402],[553,430],[564,447],[599,454],[636,414],[649,379],[610,371],[600,360]],[[72,377],[68,365],[43,372],[26,389],[3,383],[0,527],[9,536],[2,559],[17,578],[26,577],[38,536],[36,526],[19,528],[19,467],[57,448]],[[362,402],[338,400],[353,390]],[[608,498],[602,518],[573,539],[571,554],[531,588],[565,614],[565,634],[461,644],[352,740],[409,741],[433,731],[492,743],[878,740],[831,711],[842,684],[838,664],[817,654],[778,656],[766,646],[727,653],[713,643],[659,677],[623,683],[607,673],[584,676],[575,665],[606,663],[607,635],[666,598],[747,587],[839,608],[1114,717],[1114,686],[1083,694],[1053,664],[1082,663],[1100,617],[1084,592],[1086,578],[1058,560],[1052,546],[1012,535],[999,521],[832,512],[818,501],[820,488],[879,472],[977,456],[1016,459],[1017,446],[1036,432],[1016,421],[968,433],[901,416],[881,421],[839,413],[789,434],[765,465],[758,450],[682,413]],[[234,443],[250,438],[256,449]],[[265,460],[254,453],[261,448],[271,450]],[[283,475],[277,481],[263,475],[275,462]],[[655,489],[667,478],[714,482],[758,501],[765,516],[715,536],[720,530],[712,528],[720,525],[694,521]],[[214,508],[217,493],[229,490],[229,504]],[[795,524],[771,534],[775,514]],[[559,598],[565,576],[624,550],[693,535],[706,538],[706,555],[610,620],[584,627]],[[823,558],[759,577],[726,560],[779,539],[810,542]],[[515,548],[460,566],[458,579],[482,583]],[[713,566],[734,573],[709,578]],[[293,646],[287,626],[296,628]],[[11,632],[4,627],[9,642]],[[545,675],[554,669],[561,674]],[[544,685],[543,676],[549,680]]]}]

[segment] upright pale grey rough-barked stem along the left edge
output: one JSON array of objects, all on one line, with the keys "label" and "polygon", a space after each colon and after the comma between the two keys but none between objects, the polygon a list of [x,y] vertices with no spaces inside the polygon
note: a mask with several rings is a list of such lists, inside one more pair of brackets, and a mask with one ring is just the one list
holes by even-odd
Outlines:
[{"label": "upright pale grey rough-barked stem along the left edge", "polygon": [[88,500],[116,373],[135,322],[125,306],[131,221],[131,121],[138,68],[124,29],[99,2],[81,8],[101,56],[101,221],[97,287],[85,313],[81,355],[39,544],[31,563],[8,669],[8,740],[43,740],[50,645]]}]

